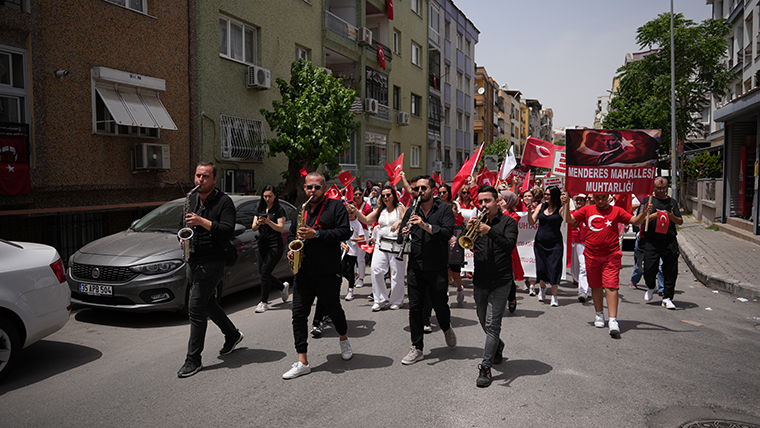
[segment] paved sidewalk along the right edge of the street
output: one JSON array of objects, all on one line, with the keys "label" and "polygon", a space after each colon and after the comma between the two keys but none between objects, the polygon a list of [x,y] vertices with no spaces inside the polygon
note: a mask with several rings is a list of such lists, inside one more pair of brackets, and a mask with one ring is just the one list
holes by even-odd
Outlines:
[{"label": "paved sidewalk along the right edge of the street", "polygon": [[706,286],[760,299],[760,245],[707,229],[694,216],[685,215],[678,246],[694,276]]}]

